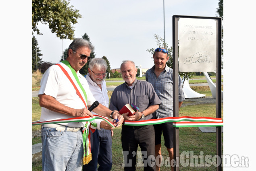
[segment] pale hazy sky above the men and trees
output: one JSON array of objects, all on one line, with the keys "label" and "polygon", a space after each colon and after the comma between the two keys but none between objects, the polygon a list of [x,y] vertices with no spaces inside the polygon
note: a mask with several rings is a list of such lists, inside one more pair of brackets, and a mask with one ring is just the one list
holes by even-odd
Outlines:
[{"label": "pale hazy sky above the men and trees", "polygon": [[[163,0],[71,0],[70,5],[83,17],[74,25],[75,37],[87,33],[95,47],[96,58],[106,56],[113,69],[120,68],[123,60],[151,68],[154,63],[147,49],[156,48],[155,34],[165,37],[169,47],[172,45],[173,15],[215,17],[218,2],[165,0],[163,5]],[[62,40],[50,32],[48,25],[39,24],[38,28],[43,35],[34,35],[44,55],[42,60],[58,63],[62,56]],[[63,50],[71,42],[64,39]]]}]

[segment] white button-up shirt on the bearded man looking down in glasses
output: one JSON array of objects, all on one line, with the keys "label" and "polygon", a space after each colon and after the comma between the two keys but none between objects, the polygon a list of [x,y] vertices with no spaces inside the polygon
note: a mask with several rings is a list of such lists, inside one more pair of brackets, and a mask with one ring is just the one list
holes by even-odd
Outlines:
[{"label": "white button-up shirt on the bearded man looking down in glasses", "polygon": [[[108,91],[106,87],[105,80],[101,83],[101,89],[100,87],[90,78],[90,74],[87,73],[86,80],[89,84],[89,89],[92,92],[92,95],[94,98],[102,105],[108,107],[109,98],[108,98]],[[97,113],[94,113],[92,111],[92,114],[98,115]],[[106,117],[108,119],[108,117]],[[102,122],[102,119],[95,119],[92,122],[95,122],[97,124],[97,129],[100,130],[100,122]]]}]

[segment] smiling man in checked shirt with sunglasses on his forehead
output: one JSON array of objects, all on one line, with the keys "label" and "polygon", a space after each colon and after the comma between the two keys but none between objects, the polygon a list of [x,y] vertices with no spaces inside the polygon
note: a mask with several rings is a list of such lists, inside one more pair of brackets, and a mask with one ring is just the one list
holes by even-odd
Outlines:
[{"label": "smiling man in checked shirt with sunglasses on his forehead", "polygon": [[[153,113],[153,118],[173,117],[173,69],[166,62],[169,60],[168,51],[164,48],[156,48],[153,54],[154,66],[147,70],[146,81],[150,82],[162,104]],[[185,100],[182,89],[181,76],[179,76],[179,108]],[[167,122],[154,125],[156,157],[161,155],[161,136],[164,136],[164,146],[169,153],[170,161],[173,159],[173,123]],[[156,161],[158,163],[158,161]],[[161,158],[159,163],[161,163]],[[171,167],[173,170],[173,167]],[[156,166],[156,171],[160,167]]]}]

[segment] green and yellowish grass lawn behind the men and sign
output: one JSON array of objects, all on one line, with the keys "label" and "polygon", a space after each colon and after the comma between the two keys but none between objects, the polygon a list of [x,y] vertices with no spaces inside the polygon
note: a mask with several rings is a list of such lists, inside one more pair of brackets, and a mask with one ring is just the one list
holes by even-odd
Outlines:
[{"label": "green and yellowish grass lawn behind the men and sign", "polygon": [[[195,91],[201,94],[206,94],[206,96],[211,96],[211,92],[208,86],[199,86],[199,87],[191,87]],[[111,97],[112,91],[108,91],[108,96]],[[32,98],[33,103],[33,114],[32,121],[36,121],[40,119],[41,108],[38,104],[38,97]],[[186,103],[186,101],[184,102]],[[193,102],[189,102],[193,103]],[[216,117],[216,104],[200,104],[200,105],[189,105],[185,107],[181,107],[179,111],[179,116],[194,116],[194,117]],[[222,103],[222,118],[223,118],[223,103]],[[32,130],[39,130],[40,126],[32,126]],[[114,135],[112,137],[112,158],[113,165],[112,171],[120,171],[124,168],[122,167],[123,163],[123,154],[122,154],[122,146],[121,146],[121,127],[115,128]],[[33,144],[40,143],[41,138],[33,138]],[[140,148],[138,148],[140,151]],[[198,127],[192,128],[179,128],[179,154],[184,154],[187,152],[194,152],[194,155],[198,155],[199,157],[206,155],[214,156],[216,155],[216,133],[205,133],[201,132]],[[222,133],[222,153],[223,153],[223,133]],[[170,171],[170,164],[167,162],[168,152],[164,146],[164,139],[162,137],[162,164],[161,171]],[[144,168],[139,165],[141,155],[137,155],[139,158],[137,163],[137,171],[143,171]],[[186,157],[186,156],[185,156]],[[187,158],[184,158],[184,155],[180,156],[180,161],[182,160],[187,162],[193,160],[191,155]],[[205,162],[205,160],[203,161]],[[199,162],[194,160],[191,163]],[[41,171],[42,170],[42,162],[32,163],[33,171]],[[182,171],[216,171],[216,167],[213,165],[210,167],[185,167],[184,162],[179,164],[180,170]]]}]

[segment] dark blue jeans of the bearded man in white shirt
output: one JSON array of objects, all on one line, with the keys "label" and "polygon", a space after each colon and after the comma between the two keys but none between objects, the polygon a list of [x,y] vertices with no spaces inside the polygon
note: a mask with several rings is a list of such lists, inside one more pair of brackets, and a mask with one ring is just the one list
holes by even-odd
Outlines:
[{"label": "dark blue jeans of the bearded man in white shirt", "polygon": [[91,132],[92,161],[83,165],[83,171],[110,171],[112,167],[112,138],[111,131],[100,128]]}]

